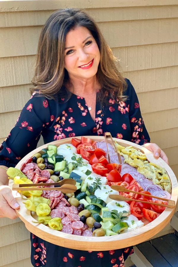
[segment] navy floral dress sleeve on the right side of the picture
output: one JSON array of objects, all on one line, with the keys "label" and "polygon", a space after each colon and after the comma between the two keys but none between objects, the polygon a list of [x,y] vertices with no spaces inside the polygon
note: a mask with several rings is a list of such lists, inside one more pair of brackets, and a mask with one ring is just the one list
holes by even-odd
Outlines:
[{"label": "navy floral dress sleeve on the right side of the picture", "polygon": [[129,104],[129,120],[131,125],[131,142],[143,145],[150,142],[150,136],[144,125],[141,115],[138,97],[131,82],[126,79],[128,104]]}]

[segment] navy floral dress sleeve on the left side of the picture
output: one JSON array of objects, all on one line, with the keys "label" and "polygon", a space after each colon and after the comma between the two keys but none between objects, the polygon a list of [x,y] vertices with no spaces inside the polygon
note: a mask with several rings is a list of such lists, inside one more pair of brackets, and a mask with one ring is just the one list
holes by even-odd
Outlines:
[{"label": "navy floral dress sleeve on the left side of the picture", "polygon": [[40,135],[49,122],[48,100],[35,94],[23,108],[15,127],[0,145],[0,165],[15,167],[21,158],[36,148]]}]

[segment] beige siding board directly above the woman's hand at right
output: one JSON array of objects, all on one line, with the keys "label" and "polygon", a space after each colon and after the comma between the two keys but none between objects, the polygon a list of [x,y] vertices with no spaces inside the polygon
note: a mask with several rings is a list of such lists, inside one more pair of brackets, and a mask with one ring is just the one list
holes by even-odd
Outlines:
[{"label": "beige siding board directly above the woman's hand at right", "polygon": [[161,149],[178,146],[178,127],[150,133],[152,143],[156,143]]}]

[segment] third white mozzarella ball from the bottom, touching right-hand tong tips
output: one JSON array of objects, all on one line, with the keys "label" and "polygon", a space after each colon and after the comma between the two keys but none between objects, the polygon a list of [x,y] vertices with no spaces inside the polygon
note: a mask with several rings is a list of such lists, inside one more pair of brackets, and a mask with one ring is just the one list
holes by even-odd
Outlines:
[{"label": "third white mozzarella ball from the bottom, touching right-hand tong tips", "polygon": [[118,191],[113,190],[109,185],[101,185],[101,190],[97,189],[95,191],[95,196],[97,198],[101,198],[104,202],[109,203],[112,201],[111,198],[109,198],[109,195],[119,195]]}]

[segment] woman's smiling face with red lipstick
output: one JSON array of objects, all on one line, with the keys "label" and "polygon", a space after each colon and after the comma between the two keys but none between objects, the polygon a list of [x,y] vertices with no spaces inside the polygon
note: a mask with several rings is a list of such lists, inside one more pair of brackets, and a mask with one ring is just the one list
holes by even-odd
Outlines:
[{"label": "woman's smiling face with red lipstick", "polygon": [[64,67],[70,79],[86,80],[94,77],[99,61],[98,45],[87,28],[78,26],[67,33]]}]

